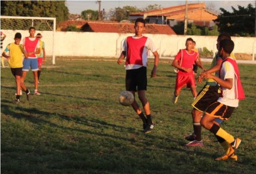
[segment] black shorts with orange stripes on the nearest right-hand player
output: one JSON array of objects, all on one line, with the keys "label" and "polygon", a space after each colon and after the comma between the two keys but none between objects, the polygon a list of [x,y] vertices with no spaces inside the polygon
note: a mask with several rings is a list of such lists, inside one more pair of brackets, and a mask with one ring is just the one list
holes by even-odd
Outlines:
[{"label": "black shorts with orange stripes on the nearest right-hand player", "polygon": [[236,107],[227,106],[220,102],[214,102],[207,108],[205,114],[222,120],[227,120],[230,118],[235,108]]}]

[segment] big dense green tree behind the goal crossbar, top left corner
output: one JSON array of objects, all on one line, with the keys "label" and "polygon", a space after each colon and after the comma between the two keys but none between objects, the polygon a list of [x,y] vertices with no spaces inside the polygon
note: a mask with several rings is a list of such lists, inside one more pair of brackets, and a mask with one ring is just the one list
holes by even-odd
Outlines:
[{"label": "big dense green tree behind the goal crossbar, top left corner", "polygon": [[65,1],[1,1],[1,15],[56,17],[56,22],[68,19],[68,8]]}]

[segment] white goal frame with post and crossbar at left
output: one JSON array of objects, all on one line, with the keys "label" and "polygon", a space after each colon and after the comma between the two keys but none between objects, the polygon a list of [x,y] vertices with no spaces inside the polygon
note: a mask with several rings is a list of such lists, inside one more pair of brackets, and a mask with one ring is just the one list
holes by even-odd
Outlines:
[{"label": "white goal frame with post and crossbar at left", "polygon": [[31,26],[33,26],[33,20],[53,20],[52,29],[52,64],[55,64],[55,32],[56,32],[56,18],[55,17],[23,17],[23,16],[0,16],[2,19],[31,19]]}]

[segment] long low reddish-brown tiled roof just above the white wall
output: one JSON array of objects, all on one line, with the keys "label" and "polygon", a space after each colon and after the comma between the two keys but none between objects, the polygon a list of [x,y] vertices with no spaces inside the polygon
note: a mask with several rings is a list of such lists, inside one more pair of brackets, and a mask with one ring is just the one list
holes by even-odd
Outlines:
[{"label": "long low reddish-brown tiled roof just above the white wall", "polygon": [[[57,31],[67,31],[69,25],[80,28],[83,32],[114,32],[114,33],[134,33],[134,23],[117,23],[102,21],[65,21],[57,26]],[[148,34],[176,35],[169,25],[146,24]]]}]

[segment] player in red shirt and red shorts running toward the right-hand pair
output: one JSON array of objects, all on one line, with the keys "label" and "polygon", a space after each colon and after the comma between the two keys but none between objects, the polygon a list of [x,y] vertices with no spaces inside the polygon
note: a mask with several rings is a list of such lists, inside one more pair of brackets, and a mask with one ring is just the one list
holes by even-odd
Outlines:
[{"label": "player in red shirt and red shorts running toward the right-hand pair", "polygon": [[202,64],[198,61],[198,53],[192,50],[193,39],[186,39],[186,49],[180,49],[175,59],[172,61],[172,66],[178,68],[175,92],[173,96],[173,103],[177,103],[181,89],[186,85],[190,88],[194,98],[197,96],[195,75],[193,74],[194,62],[202,69],[205,70]]}]

